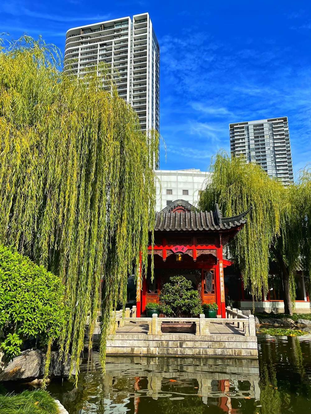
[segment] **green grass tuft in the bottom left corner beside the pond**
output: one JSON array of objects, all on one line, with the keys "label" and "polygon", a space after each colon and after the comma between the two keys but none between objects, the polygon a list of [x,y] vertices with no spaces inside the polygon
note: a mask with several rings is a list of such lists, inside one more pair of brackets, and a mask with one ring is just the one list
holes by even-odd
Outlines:
[{"label": "green grass tuft in the bottom left corner beside the pond", "polygon": [[58,407],[49,392],[23,391],[0,395],[0,414],[58,414]]}]

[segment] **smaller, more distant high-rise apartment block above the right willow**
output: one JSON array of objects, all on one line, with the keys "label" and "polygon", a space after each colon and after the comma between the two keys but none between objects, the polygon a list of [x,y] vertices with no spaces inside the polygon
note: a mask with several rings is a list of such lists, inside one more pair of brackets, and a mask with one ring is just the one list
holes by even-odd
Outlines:
[{"label": "smaller, more distant high-rise apartment block above the right willow", "polygon": [[294,181],[287,116],[229,124],[231,154],[260,164],[284,185]]}]

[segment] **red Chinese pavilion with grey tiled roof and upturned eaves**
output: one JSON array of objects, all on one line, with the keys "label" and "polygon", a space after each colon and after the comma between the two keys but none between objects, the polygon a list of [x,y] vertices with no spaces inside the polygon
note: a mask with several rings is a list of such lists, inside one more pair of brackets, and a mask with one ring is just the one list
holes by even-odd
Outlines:
[{"label": "red Chinese pavilion with grey tiled roof and upturned eaves", "polygon": [[155,214],[154,278],[151,281],[151,242],[147,275],[137,284],[137,316],[147,302],[158,302],[163,284],[181,274],[199,291],[202,303],[216,302],[217,314],[225,317],[224,267],[233,262],[223,257],[223,246],[246,223],[245,215],[222,217],[215,211],[198,211],[185,200],[176,200]]}]

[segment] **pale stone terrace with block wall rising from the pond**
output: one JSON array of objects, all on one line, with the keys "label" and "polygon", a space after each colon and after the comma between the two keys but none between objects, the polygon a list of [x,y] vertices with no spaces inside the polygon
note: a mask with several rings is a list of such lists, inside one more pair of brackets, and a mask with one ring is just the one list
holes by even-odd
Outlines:
[{"label": "pale stone terrace with block wall rising from the pond", "polygon": [[[153,334],[151,320],[144,319],[128,318],[119,326],[116,324],[115,331],[107,338],[107,355],[258,359],[255,329],[245,332],[243,319],[209,320],[205,335],[198,332]],[[158,323],[158,318],[152,319]],[[248,318],[244,321],[249,322]]]}]

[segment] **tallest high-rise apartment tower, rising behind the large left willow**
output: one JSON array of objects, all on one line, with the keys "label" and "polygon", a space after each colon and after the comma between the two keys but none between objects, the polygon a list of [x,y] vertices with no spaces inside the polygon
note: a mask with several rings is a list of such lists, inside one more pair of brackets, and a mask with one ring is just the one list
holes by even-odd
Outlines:
[{"label": "tallest high-rise apartment tower, rising behind the large left willow", "polygon": [[67,31],[65,70],[83,76],[100,62],[111,67],[119,96],[134,108],[141,129],[159,132],[160,49],[149,14]]}]

